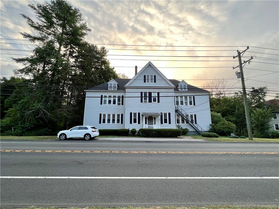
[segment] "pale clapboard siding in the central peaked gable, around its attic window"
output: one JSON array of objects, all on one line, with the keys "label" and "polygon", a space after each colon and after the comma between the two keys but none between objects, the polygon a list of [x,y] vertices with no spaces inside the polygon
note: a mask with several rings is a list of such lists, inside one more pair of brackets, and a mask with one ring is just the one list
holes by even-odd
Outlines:
[{"label": "pale clapboard siding in the central peaked gable, around its attic window", "polygon": [[[144,83],[144,75],[156,75],[156,83]],[[129,87],[131,86],[170,87],[170,85],[151,66],[144,69],[144,72],[140,73],[140,75],[129,84]]]}]

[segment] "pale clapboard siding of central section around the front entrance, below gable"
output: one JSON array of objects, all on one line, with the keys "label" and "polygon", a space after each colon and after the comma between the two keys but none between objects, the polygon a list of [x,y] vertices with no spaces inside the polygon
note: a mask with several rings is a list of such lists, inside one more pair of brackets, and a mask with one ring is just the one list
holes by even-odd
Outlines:
[{"label": "pale clapboard siding of central section around the front entrance, below gable", "polygon": [[[161,90],[161,92],[160,92]],[[161,124],[162,128],[175,128],[175,113],[174,113],[174,102],[173,102],[173,89],[137,89],[138,93],[134,93],[135,89],[126,89],[126,128],[140,129],[142,128],[142,113],[170,113],[171,114],[171,124]],[[141,103],[140,92],[159,92],[160,93],[160,103]],[[133,96],[134,98],[129,98]],[[138,96],[138,97],[136,97]],[[168,96],[168,97],[164,97]],[[130,112],[140,112],[140,124],[130,124]],[[160,120],[160,116],[159,116]]]}]

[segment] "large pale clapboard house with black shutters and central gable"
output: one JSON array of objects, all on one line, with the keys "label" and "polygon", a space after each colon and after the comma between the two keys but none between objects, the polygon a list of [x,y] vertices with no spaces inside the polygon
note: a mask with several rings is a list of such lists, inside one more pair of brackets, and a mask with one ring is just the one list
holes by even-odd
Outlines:
[{"label": "large pale clapboard house with black shutters and central gable", "polygon": [[148,62],[132,79],[112,79],[86,91],[83,125],[98,129],[177,128],[208,131],[209,92],[167,79]]}]

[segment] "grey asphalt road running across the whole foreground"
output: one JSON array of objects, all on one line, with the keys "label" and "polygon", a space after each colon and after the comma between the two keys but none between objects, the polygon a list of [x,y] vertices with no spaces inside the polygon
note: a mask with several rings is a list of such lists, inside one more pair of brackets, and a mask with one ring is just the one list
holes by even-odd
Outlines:
[{"label": "grey asphalt road running across the whole foreground", "polygon": [[[185,153],[1,152],[0,175],[15,177],[1,178],[1,207],[279,203],[278,178],[250,178],[278,177],[278,154],[248,154],[278,153],[278,144],[4,142],[0,142],[1,150]],[[209,154],[212,152],[231,153]],[[18,176],[48,176],[49,179],[20,179]],[[57,176],[71,179],[57,179]],[[115,176],[123,179],[111,178]],[[205,179],[204,176],[227,179]]]}]

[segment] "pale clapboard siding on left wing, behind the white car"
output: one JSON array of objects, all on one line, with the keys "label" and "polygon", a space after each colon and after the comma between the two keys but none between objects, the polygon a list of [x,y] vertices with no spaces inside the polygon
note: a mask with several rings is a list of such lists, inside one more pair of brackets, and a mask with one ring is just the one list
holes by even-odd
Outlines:
[{"label": "pale clapboard siding on left wing, behind the white car", "polygon": [[[123,105],[101,105],[101,95],[124,96]],[[125,93],[124,92],[86,92],[83,125],[94,125],[98,129],[121,129],[125,128]],[[98,98],[90,98],[98,97]],[[99,124],[100,113],[123,114],[123,124]]]}]

